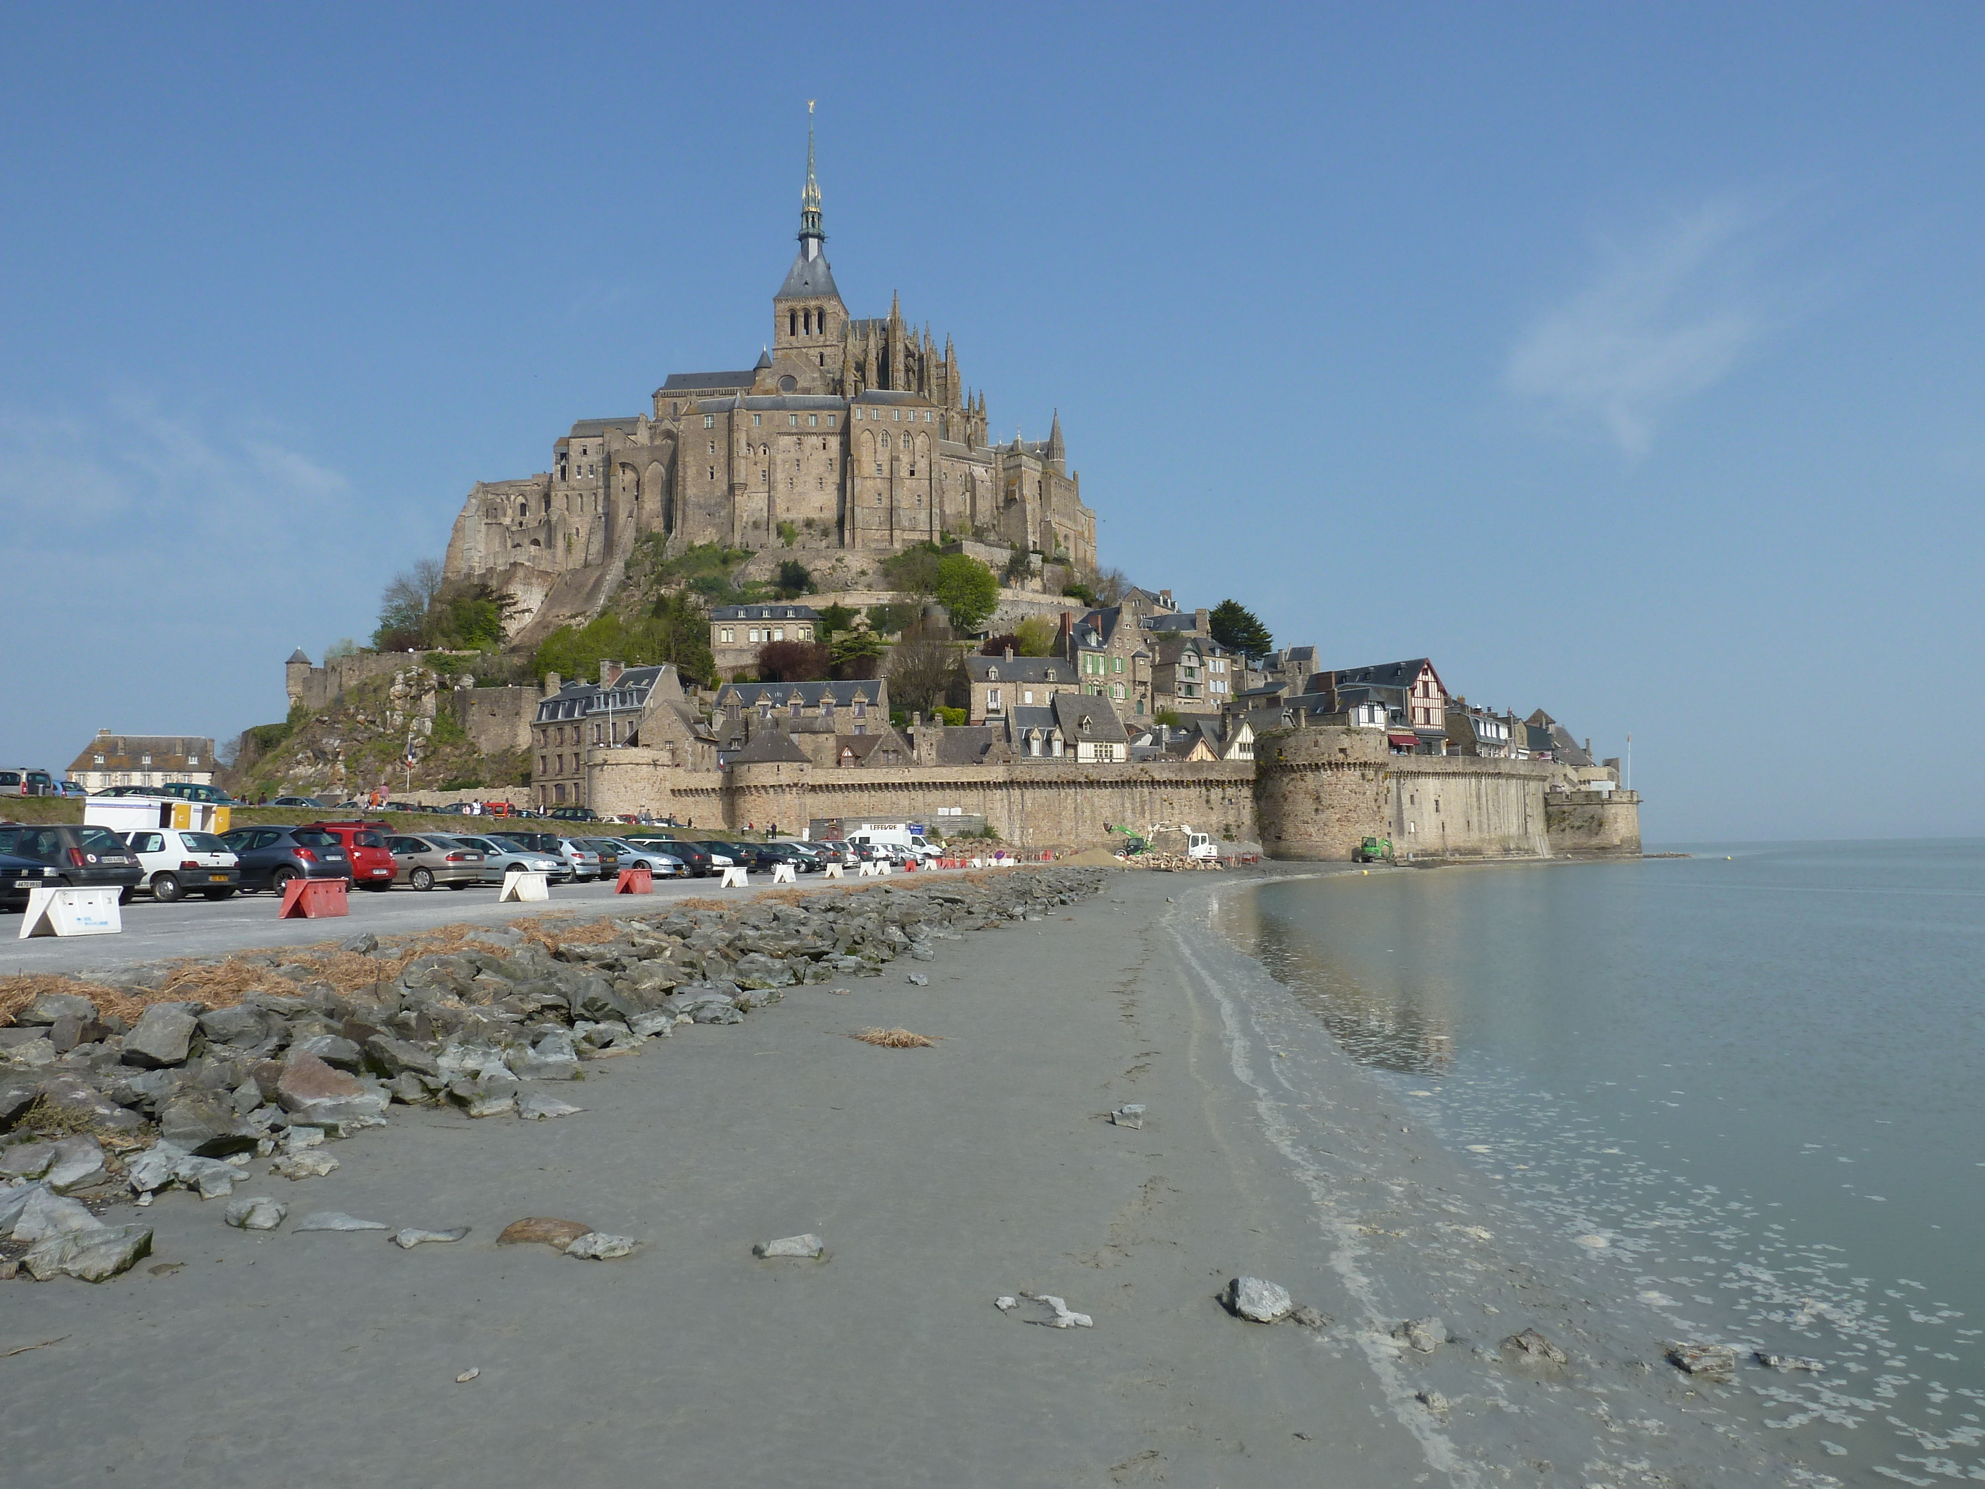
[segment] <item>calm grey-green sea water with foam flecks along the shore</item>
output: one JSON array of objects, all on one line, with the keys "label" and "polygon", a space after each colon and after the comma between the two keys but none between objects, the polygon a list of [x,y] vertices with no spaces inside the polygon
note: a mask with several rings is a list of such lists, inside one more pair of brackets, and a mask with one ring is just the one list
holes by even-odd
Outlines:
[{"label": "calm grey-green sea water with foam flecks along the shore", "polygon": [[1842,1483],[1985,1481],[1985,844],[1270,883],[1225,925]]}]

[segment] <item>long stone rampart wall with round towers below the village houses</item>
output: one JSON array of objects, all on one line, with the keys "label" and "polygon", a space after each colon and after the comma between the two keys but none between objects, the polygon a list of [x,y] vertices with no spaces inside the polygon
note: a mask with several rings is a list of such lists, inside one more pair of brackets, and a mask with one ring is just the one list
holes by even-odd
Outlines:
[{"label": "long stone rampart wall with round towers below the village houses", "polygon": [[[1187,824],[1268,858],[1344,862],[1372,836],[1399,856],[1548,858],[1640,852],[1640,804],[1626,792],[1554,792],[1542,760],[1395,756],[1384,733],[1294,729],[1257,741],[1255,762],[903,766],[742,764],[713,776],[659,750],[597,750],[588,800],[603,816],[651,812],[707,830],[814,818],[981,816],[1016,848],[1100,844],[1112,824]],[[1552,806],[1560,802],[1560,806]],[[941,810],[951,808],[951,810]]]}]

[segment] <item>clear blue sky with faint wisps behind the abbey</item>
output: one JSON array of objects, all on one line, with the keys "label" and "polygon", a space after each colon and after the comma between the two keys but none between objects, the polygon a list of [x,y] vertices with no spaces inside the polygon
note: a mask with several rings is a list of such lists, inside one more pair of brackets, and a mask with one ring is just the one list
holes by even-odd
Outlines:
[{"label": "clear blue sky with faint wisps behind the abbey", "polygon": [[[1979,6],[10,6],[0,760],[232,735],[478,478],[854,314],[1104,562],[1634,733],[1650,838],[1985,832]],[[1906,772],[1902,766],[1914,764]]]}]

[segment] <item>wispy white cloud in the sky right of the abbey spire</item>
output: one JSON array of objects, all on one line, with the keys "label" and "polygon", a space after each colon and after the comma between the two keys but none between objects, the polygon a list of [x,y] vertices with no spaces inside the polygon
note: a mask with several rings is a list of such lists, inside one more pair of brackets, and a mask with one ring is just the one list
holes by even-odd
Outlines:
[{"label": "wispy white cloud in the sky right of the abbey spire", "polygon": [[1753,274],[1763,224],[1757,210],[1709,203],[1642,242],[1606,244],[1592,284],[1517,338],[1507,389],[1646,455],[1655,425],[1771,330]]}]

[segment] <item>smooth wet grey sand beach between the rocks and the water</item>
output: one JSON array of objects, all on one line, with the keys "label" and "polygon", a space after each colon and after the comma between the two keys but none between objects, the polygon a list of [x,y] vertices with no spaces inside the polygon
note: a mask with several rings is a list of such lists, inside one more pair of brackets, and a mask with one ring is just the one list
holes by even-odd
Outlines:
[{"label": "smooth wet grey sand beach between the rocks and the water", "polygon": [[[1207,929],[1245,891],[1112,874],[945,939],[929,987],[895,963],[590,1062],[580,1116],[395,1108],[335,1173],[240,1191],[457,1245],[232,1231],[161,1193],[129,1275],[0,1286],[0,1352],[50,1340],[0,1358],[6,1481],[1790,1481]],[[1129,1102],[1141,1130],[1108,1118]],[[496,1247],[526,1215],[639,1249]],[[822,1261],[752,1255],[808,1231]],[[1231,1316],[1235,1275],[1326,1322]],[[1429,1350],[1391,1336],[1435,1316]],[[1513,1364],[1524,1328],[1566,1364]]]}]

